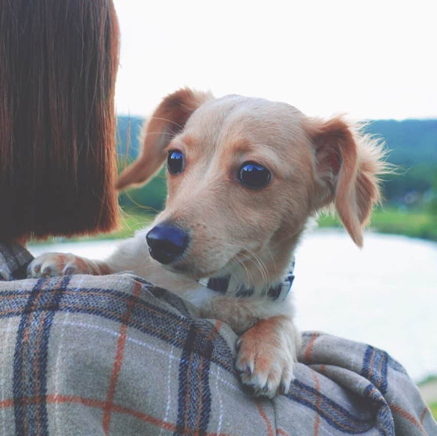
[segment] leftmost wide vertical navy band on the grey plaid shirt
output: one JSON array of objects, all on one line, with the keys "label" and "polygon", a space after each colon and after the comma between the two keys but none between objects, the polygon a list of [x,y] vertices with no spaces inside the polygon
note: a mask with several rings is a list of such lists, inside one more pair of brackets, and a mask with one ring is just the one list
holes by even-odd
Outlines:
[{"label": "leftmost wide vertical navy band on the grey plaid shirt", "polygon": [[[22,310],[14,354],[13,395],[16,435],[48,435],[47,353],[50,327],[71,276],[40,279]],[[41,310],[34,310],[40,307]],[[23,404],[23,398],[38,398]]]}]

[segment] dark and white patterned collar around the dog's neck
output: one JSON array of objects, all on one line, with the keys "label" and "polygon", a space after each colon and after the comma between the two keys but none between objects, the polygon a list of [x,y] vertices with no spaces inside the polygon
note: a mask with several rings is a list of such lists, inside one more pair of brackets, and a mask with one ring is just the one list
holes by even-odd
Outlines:
[{"label": "dark and white patterned collar around the dog's neck", "polygon": [[[295,260],[293,259],[288,275],[281,283],[269,288],[267,291],[268,297],[273,300],[285,300],[295,279],[294,269]],[[224,277],[206,277],[198,280],[198,283],[211,291],[216,291],[221,294],[234,293],[235,297],[238,298],[250,297],[255,292],[255,288],[246,288],[241,285],[233,286],[231,275],[226,275]]]}]

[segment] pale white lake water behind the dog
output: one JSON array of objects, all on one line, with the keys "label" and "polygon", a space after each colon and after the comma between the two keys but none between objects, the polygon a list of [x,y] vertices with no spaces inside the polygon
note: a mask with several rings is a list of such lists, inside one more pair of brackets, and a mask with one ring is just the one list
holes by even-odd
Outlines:
[{"label": "pale white lake water behind the dog", "polygon": [[[33,245],[33,255],[107,257],[116,241]],[[296,323],[383,348],[416,381],[437,373],[437,243],[367,233],[359,250],[342,230],[314,230],[297,251]]]}]

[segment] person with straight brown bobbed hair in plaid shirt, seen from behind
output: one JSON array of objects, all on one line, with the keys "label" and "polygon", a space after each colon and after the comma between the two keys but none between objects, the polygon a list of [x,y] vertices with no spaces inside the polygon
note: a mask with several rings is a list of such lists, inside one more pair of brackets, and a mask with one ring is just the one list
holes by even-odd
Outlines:
[{"label": "person with straight brown bobbed hair in plaid shirt, seen from behind", "polygon": [[[110,0],[0,0],[3,435],[436,435],[405,370],[302,335],[285,395],[255,399],[235,333],[129,273],[25,279],[32,236],[116,226]],[[147,278],[147,277],[146,277]]]}]

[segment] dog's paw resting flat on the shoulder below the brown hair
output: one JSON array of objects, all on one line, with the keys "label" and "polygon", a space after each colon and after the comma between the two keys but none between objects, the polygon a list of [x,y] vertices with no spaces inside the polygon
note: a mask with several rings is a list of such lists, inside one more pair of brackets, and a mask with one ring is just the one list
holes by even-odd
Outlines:
[{"label": "dog's paw resting flat on the shoulder below the brown hair", "polygon": [[92,262],[70,253],[46,253],[34,258],[28,266],[28,277],[93,274]]}]

